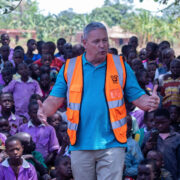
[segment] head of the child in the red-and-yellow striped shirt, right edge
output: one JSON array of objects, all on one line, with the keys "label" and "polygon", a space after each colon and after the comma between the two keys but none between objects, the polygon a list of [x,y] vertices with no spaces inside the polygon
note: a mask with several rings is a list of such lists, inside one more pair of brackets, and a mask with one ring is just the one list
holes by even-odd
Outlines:
[{"label": "head of the child in the red-and-yellow striped shirt, right edge", "polygon": [[170,64],[170,70],[174,78],[180,77],[180,60],[173,59]]}]

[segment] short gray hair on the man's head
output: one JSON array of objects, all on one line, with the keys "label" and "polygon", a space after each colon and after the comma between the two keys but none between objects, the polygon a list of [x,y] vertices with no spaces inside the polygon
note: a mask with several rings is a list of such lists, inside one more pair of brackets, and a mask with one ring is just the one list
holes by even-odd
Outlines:
[{"label": "short gray hair on the man's head", "polygon": [[104,24],[102,24],[100,22],[91,22],[84,28],[83,39],[87,39],[89,33],[96,29],[104,29],[107,32],[107,29],[104,26]]}]

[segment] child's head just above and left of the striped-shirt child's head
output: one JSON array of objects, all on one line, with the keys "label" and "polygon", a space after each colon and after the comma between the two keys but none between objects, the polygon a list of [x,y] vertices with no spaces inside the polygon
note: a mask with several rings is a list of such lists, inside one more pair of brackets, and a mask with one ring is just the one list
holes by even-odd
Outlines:
[{"label": "child's head just above and left of the striped-shirt child's head", "polygon": [[168,68],[174,57],[175,57],[175,53],[173,49],[167,48],[162,51],[162,61]]}]

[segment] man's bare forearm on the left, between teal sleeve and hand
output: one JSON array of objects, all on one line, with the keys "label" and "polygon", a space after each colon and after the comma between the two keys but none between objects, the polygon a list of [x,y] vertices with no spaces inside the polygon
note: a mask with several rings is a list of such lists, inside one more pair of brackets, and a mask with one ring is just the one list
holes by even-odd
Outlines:
[{"label": "man's bare forearm on the left, between teal sleeve and hand", "polygon": [[43,110],[47,117],[53,115],[57,109],[63,105],[65,98],[59,98],[55,96],[48,96],[43,102]]}]

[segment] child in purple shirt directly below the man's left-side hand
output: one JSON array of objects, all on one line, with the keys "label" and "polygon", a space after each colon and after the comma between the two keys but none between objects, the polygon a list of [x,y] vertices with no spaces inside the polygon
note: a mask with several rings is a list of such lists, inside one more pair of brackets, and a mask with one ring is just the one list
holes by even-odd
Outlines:
[{"label": "child in purple shirt directly below the man's left-side hand", "polygon": [[50,164],[59,150],[59,143],[54,128],[42,124],[38,119],[38,107],[37,102],[29,104],[30,121],[20,127],[20,132],[27,132],[32,136],[36,144],[36,151],[43,155],[46,164]]}]

